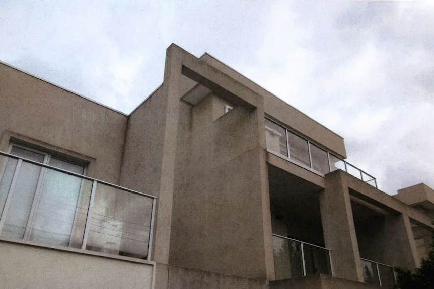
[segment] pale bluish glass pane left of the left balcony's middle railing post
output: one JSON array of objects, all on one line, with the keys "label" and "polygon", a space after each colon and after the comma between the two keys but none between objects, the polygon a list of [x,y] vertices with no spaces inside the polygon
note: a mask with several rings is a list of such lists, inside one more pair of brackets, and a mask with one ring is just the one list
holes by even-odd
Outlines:
[{"label": "pale bluish glass pane left of the left balcony's middle railing post", "polygon": [[29,218],[29,239],[80,248],[92,181],[52,169],[43,170],[41,191]]}]

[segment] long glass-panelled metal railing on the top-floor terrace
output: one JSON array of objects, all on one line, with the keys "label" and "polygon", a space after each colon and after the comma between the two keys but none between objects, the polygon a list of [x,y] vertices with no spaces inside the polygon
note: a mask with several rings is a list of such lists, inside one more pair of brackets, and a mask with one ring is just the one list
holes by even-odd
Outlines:
[{"label": "long glass-panelled metal railing on the top-floor terrace", "polygon": [[267,118],[265,131],[267,151],[320,175],[341,169],[377,187],[376,178],[369,173]]}]

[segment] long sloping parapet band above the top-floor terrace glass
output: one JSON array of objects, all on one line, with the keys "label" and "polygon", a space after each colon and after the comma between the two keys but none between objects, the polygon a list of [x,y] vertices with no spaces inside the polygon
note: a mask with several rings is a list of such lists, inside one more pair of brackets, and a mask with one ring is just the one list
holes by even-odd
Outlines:
[{"label": "long sloping parapet band above the top-floor terrace glass", "polygon": [[252,91],[262,95],[266,114],[336,152],[341,157],[346,157],[345,144],[341,136],[276,98],[264,88],[226,66],[219,60],[216,60],[209,54],[204,54],[200,59],[231,76],[246,87],[252,89]]}]

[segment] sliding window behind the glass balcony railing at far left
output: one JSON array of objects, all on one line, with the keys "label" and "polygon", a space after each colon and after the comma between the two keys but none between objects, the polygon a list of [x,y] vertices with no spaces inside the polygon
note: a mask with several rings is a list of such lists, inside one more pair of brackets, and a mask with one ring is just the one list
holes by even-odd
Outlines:
[{"label": "sliding window behind the glass balcony railing at far left", "polygon": [[[85,172],[83,164],[15,144],[10,154]],[[8,158],[0,171],[0,235],[80,247],[91,187],[91,181],[78,176]]]}]

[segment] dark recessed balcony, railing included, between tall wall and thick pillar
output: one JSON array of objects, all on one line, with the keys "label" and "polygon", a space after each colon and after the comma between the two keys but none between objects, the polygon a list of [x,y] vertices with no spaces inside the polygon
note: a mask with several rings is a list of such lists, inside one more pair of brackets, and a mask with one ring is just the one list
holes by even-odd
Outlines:
[{"label": "dark recessed balcony, railing included, between tall wall and thick pillar", "polygon": [[268,178],[276,280],[331,275],[318,199],[322,188],[272,165]]}]

